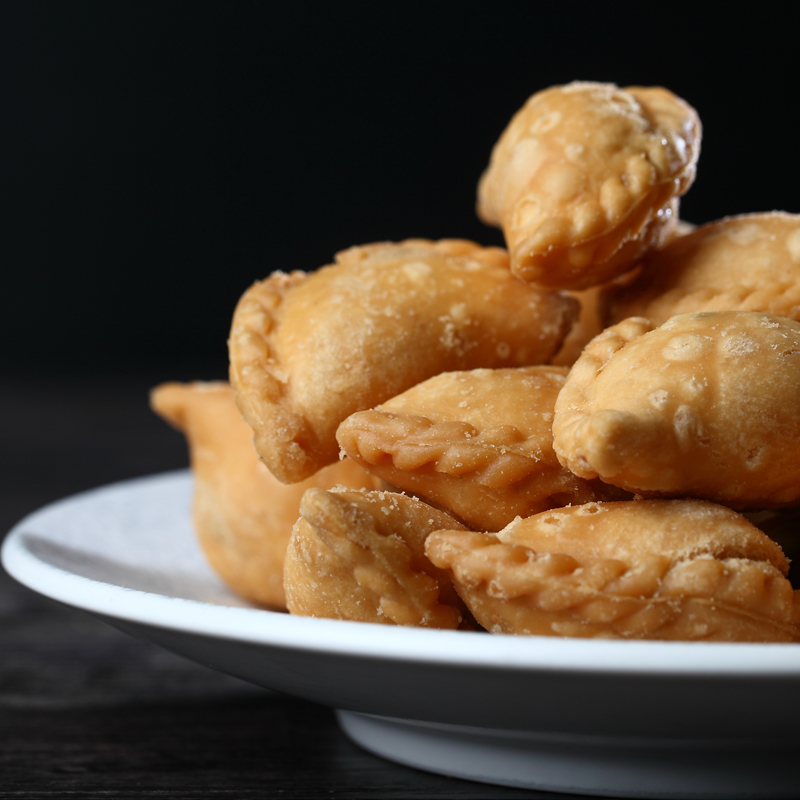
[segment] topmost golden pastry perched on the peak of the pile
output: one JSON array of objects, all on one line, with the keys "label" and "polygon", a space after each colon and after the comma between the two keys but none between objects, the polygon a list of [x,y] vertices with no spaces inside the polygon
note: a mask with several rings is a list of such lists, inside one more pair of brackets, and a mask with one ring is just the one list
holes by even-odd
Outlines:
[{"label": "topmost golden pastry perched on the peak of the pile", "polygon": [[666,89],[575,82],[514,115],[478,185],[478,215],[502,228],[526,281],[585,289],[660,246],[692,184],[701,128]]}]

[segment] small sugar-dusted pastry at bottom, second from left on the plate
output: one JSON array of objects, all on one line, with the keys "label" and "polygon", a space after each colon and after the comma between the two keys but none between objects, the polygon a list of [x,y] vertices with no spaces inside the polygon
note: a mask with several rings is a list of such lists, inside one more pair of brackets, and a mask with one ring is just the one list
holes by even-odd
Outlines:
[{"label": "small sugar-dusted pastry at bottom, second from left on the plate", "polygon": [[459,523],[394,492],[309,489],[286,554],[292,614],[387,625],[458,628],[469,619],[425,538]]}]

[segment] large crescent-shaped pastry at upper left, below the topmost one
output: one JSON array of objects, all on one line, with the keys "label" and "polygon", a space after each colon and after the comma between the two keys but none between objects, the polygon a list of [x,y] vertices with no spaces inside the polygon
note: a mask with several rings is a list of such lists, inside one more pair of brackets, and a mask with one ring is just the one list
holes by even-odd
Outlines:
[{"label": "large crescent-shaped pastry at upper left, below the topmost one", "polygon": [[261,458],[285,483],[336,461],[345,417],[440,372],[547,362],[577,315],[527,286],[500,248],[463,240],[354,247],[240,300],[231,382]]}]

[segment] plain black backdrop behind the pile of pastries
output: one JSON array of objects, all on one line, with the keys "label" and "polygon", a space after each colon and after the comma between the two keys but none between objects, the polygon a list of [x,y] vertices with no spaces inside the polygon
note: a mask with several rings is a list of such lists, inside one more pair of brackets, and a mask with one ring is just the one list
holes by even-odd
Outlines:
[{"label": "plain black backdrop behind the pile of pastries", "polygon": [[798,14],[715,7],[3,3],[4,370],[222,377],[233,306],[274,269],[499,243],[473,211],[490,148],[574,79],[698,109],[684,218],[800,211]]}]

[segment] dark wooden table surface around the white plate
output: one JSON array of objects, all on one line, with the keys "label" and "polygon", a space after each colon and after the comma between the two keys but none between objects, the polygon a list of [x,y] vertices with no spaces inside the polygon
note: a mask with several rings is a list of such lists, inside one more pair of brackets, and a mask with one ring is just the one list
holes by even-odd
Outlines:
[{"label": "dark wooden table surface around the white plate", "polygon": [[[182,438],[147,408],[171,377],[0,380],[0,531],[74,492],[185,466]],[[0,797],[217,795],[563,797],[384,761],[328,708],[180,659],[0,571]]]}]

